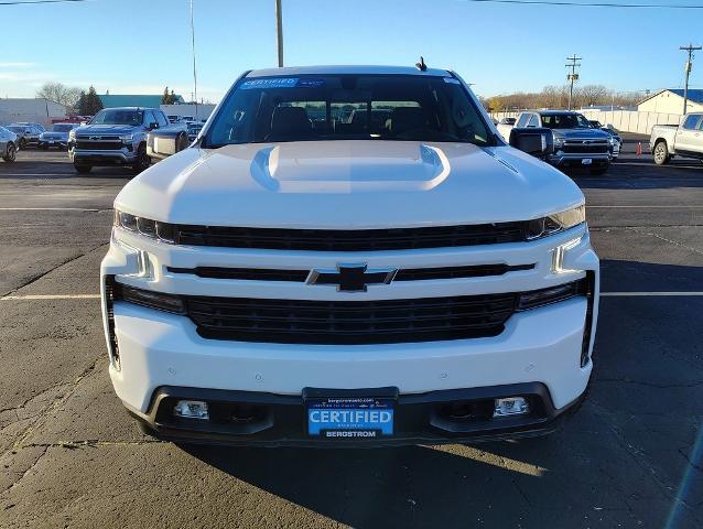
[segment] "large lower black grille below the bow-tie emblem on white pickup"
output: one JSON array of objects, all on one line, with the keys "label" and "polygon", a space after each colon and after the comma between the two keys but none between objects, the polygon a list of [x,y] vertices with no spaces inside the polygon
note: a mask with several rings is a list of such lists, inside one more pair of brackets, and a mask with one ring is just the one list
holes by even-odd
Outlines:
[{"label": "large lower black grille below the bow-tie emblem on white pickup", "polygon": [[382,301],[183,296],[201,336],[296,344],[390,344],[496,336],[519,294]]}]

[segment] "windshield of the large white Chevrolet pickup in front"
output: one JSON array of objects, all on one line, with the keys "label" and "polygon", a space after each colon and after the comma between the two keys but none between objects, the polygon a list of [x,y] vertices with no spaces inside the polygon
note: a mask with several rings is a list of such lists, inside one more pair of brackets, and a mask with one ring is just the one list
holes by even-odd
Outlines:
[{"label": "windshield of the large white Chevrolet pickup in front", "polygon": [[310,140],[494,141],[453,77],[345,74],[240,80],[203,147]]}]

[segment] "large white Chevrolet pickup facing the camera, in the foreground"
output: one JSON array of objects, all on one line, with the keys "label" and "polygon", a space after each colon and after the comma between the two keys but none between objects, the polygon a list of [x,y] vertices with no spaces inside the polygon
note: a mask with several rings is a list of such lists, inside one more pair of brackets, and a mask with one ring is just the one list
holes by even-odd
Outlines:
[{"label": "large white Chevrolet pickup facing the camera, in the foreground", "polygon": [[110,377],[153,435],[505,439],[585,395],[583,194],[506,145],[453,72],[248,72],[115,210]]}]

